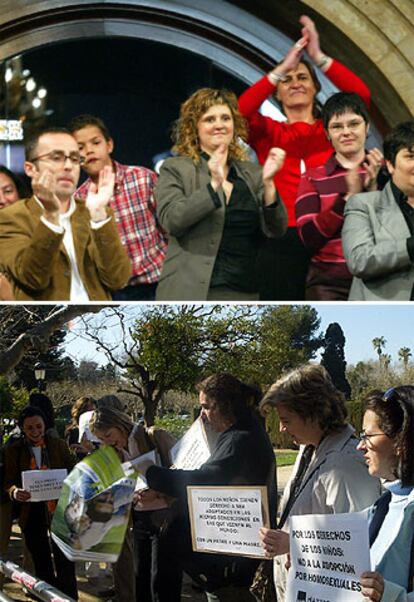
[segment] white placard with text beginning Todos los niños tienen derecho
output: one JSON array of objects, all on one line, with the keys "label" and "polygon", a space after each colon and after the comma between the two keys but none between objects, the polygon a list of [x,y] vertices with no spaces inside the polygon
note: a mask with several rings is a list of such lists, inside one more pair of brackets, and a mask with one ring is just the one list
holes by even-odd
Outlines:
[{"label": "white placard with text beginning Todos los ni\u00f1os tienen derecho", "polygon": [[187,487],[195,552],[263,558],[259,529],[268,526],[266,487]]}]

